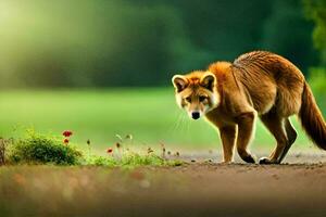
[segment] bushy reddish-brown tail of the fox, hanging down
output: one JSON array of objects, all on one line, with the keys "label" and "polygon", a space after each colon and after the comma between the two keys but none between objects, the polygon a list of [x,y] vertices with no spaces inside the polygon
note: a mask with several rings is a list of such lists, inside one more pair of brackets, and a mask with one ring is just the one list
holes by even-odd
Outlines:
[{"label": "bushy reddish-brown tail of the fox, hanging down", "polygon": [[321,149],[326,150],[326,124],[315,98],[306,82],[302,92],[299,118],[310,139]]}]

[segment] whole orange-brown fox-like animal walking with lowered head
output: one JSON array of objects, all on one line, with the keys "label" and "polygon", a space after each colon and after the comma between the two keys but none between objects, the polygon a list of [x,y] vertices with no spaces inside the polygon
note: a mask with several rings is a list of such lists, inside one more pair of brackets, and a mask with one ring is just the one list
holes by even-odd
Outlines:
[{"label": "whole orange-brown fox-like animal walking with lowered head", "polygon": [[268,51],[251,51],[231,62],[215,62],[203,71],[174,75],[177,105],[189,117],[204,117],[218,128],[223,162],[234,162],[234,150],[247,163],[255,163],[249,144],[259,117],[276,140],[269,156],[259,164],[280,164],[297,139],[289,117],[318,148],[326,150],[326,124],[301,71],[286,58]]}]

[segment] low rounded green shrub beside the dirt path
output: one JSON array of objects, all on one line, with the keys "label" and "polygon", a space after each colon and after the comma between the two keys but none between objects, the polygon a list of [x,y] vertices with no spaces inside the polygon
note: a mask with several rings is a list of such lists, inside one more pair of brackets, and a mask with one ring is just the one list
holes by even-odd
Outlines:
[{"label": "low rounded green shrub beside the dirt path", "polygon": [[26,138],[12,142],[7,158],[12,164],[76,165],[82,156],[82,152],[58,138],[29,131]]}]

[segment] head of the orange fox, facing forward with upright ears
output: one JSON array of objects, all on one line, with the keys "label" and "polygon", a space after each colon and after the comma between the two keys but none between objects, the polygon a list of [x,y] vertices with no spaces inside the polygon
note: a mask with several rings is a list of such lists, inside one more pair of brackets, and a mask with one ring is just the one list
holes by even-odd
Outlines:
[{"label": "head of the orange fox, facing forward with upright ears", "polygon": [[211,72],[193,72],[172,78],[177,104],[193,119],[199,119],[220,103],[217,80]]}]

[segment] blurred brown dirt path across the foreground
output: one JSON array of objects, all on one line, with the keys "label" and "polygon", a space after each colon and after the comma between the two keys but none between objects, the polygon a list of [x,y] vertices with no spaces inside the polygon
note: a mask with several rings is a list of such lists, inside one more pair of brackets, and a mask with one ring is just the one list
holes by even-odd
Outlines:
[{"label": "blurred brown dirt path across the foreground", "polygon": [[324,217],[326,163],[2,167],[0,201],[0,216]]}]

